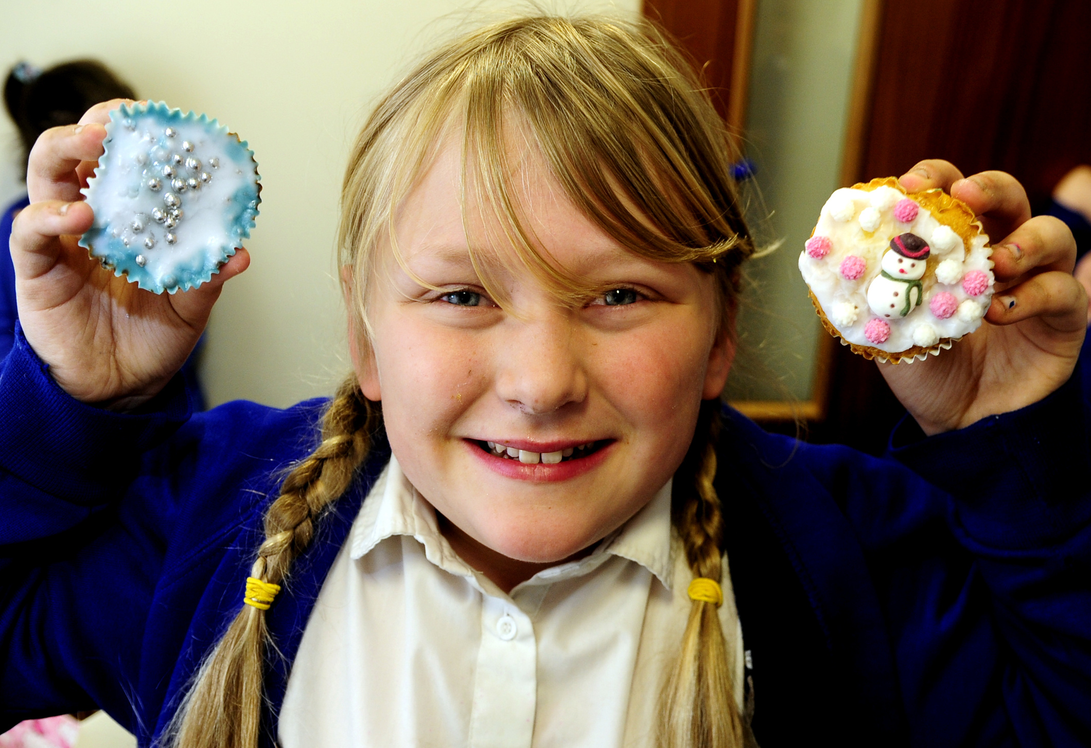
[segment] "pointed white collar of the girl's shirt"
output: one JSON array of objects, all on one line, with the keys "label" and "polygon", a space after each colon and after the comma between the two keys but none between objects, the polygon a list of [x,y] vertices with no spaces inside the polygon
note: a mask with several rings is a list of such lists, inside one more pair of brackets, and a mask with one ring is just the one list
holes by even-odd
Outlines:
[{"label": "pointed white collar of the girl's shirt", "polygon": [[[589,574],[609,556],[620,556],[645,567],[671,589],[674,557],[671,547],[671,484],[659,490],[648,504],[637,511],[588,556],[544,569],[524,583],[551,583],[561,579]],[[379,543],[395,535],[409,535],[424,546],[425,557],[440,568],[458,576],[476,576],[452,550],[440,532],[432,508],[401,472],[397,458],[391,461],[375,481],[349,535],[349,555],[358,559]]]}]

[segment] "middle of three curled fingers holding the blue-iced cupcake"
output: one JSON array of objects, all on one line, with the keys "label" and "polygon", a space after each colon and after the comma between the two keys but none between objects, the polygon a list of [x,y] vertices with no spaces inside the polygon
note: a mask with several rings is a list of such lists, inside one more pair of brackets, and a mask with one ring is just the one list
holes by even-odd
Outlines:
[{"label": "middle of three curled fingers holding the blue-iced cupcake", "polygon": [[50,128],[41,133],[26,165],[26,192],[31,202],[80,200],[81,180],[76,167],[103,155],[104,137],[106,128],[97,122]]}]

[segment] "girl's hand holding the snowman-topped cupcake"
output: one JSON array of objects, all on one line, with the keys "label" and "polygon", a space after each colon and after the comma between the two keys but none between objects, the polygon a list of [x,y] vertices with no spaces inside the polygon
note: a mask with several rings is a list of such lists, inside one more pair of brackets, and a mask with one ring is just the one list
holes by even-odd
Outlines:
[{"label": "girl's hand holding the snowman-topped cupcake", "polygon": [[951,164],[926,160],[900,181],[909,192],[943,188],[980,216],[996,293],[982,326],[950,350],[911,365],[879,364],[894,394],[932,435],[1053,393],[1076,366],[1088,321],[1071,231],[1051,216],[1031,218],[1022,185],[1002,171],[963,179]]}]

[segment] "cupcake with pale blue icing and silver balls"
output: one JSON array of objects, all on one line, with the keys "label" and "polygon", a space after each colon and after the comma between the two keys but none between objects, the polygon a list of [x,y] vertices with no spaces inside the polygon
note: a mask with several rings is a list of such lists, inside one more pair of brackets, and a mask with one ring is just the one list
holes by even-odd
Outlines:
[{"label": "cupcake with pale blue icing and silver balls", "polygon": [[130,282],[175,293],[212,279],[250,237],[261,203],[254,154],[207,116],[159,101],[110,112],[82,192],[95,221],[80,245]]}]

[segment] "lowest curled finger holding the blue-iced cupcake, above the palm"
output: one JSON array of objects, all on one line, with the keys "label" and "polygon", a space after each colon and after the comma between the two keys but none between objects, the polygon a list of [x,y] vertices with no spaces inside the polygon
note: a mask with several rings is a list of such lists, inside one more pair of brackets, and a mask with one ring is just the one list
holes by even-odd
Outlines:
[{"label": "lowest curled finger holding the blue-iced cupcake, above the palm", "polygon": [[19,212],[11,230],[11,260],[15,277],[37,278],[57,263],[62,248],[57,238],[91,228],[94,212],[83,201],[32,203]]}]

